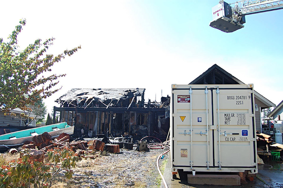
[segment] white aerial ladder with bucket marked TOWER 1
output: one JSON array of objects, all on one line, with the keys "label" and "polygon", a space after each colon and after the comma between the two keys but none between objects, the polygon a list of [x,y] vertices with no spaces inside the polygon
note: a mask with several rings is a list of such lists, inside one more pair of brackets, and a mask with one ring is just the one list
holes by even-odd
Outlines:
[{"label": "white aerial ladder with bucket marked TOWER 1", "polygon": [[210,26],[226,33],[243,28],[245,16],[283,9],[283,0],[241,0],[228,4],[223,0],[212,8]]}]

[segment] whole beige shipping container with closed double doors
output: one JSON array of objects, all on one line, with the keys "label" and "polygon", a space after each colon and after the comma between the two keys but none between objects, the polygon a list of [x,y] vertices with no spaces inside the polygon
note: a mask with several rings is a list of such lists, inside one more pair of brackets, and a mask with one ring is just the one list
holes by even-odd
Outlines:
[{"label": "whole beige shipping container with closed double doors", "polygon": [[170,126],[172,174],[258,172],[253,84],[172,84]]}]

